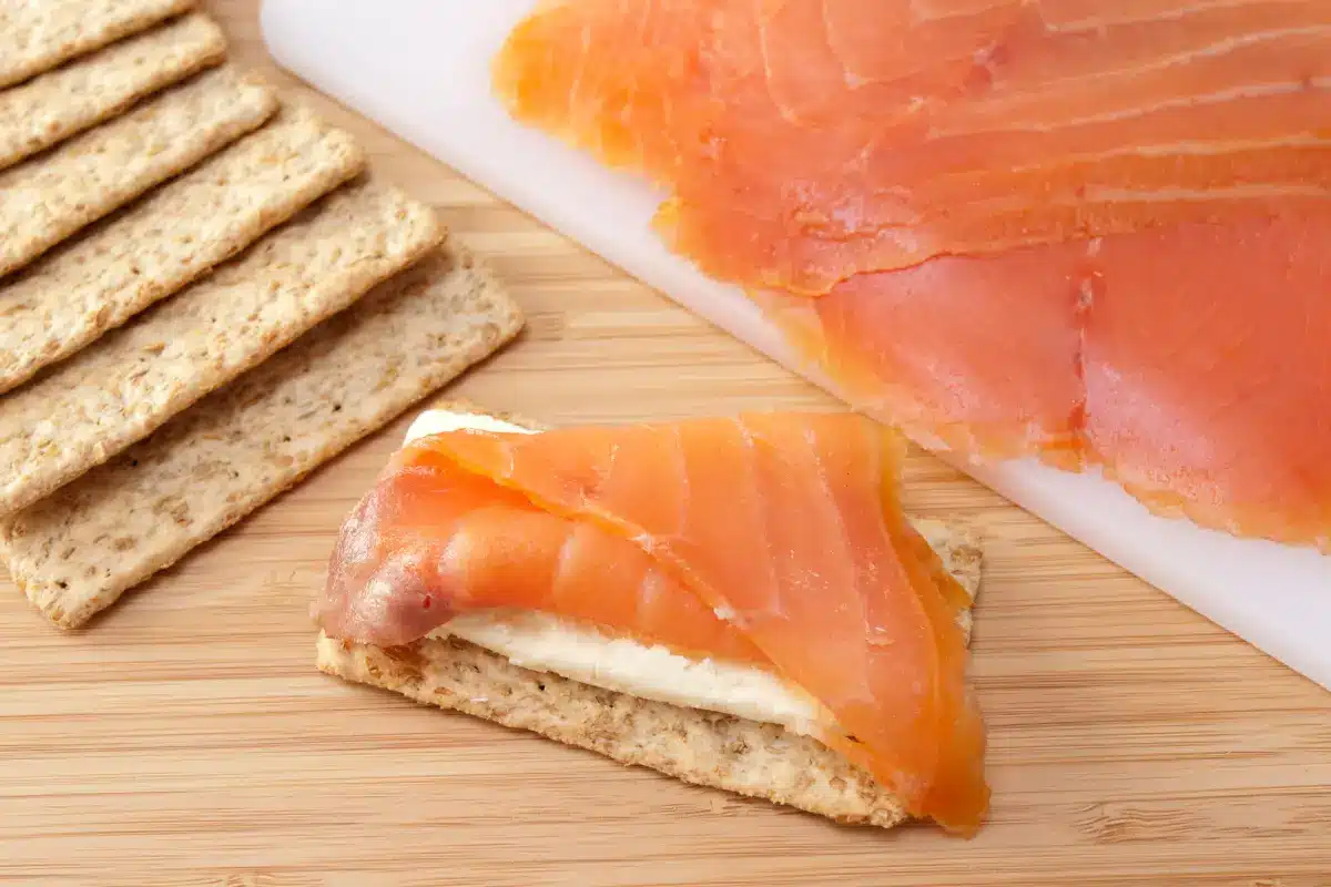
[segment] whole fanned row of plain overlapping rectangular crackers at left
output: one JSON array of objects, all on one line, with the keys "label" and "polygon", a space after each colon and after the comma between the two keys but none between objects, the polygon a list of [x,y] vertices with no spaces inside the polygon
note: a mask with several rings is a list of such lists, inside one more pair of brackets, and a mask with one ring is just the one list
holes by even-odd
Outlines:
[{"label": "whole fanned row of plain overlapping rectangular crackers at left", "polygon": [[192,7],[0,8],[0,553],[65,628],[522,326]]}]

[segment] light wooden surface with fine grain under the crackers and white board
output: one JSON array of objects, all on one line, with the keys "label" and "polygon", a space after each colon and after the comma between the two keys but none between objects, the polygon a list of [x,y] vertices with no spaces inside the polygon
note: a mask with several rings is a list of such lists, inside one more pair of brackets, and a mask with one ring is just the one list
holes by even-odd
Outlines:
[{"label": "light wooden surface with fine grain under the crackers and white board", "polygon": [[[266,66],[257,0],[208,5]],[[449,396],[552,423],[829,403],[311,101],[439,206],[528,313]],[[992,540],[974,673],[994,810],[973,842],[831,826],[323,677],[309,596],[406,424],[92,630],[59,633],[0,582],[0,880],[1331,886],[1331,694],[924,455],[914,511],[973,517]]]}]

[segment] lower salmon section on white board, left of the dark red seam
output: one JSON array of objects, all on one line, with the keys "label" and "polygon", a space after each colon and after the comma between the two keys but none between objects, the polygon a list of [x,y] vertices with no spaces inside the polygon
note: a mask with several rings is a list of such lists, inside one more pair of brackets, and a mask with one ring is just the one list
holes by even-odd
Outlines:
[{"label": "lower salmon section on white board, left of the dark red seam", "polygon": [[1085,245],[861,274],[820,299],[756,293],[858,408],[986,460],[1082,467]]}]

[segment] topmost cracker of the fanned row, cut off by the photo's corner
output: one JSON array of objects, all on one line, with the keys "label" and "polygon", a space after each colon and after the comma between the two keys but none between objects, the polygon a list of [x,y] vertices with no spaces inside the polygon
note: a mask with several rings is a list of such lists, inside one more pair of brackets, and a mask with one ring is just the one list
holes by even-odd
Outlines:
[{"label": "topmost cracker of the fanned row, cut off by the photo's corner", "polygon": [[186,12],[194,0],[7,0],[0,88]]}]

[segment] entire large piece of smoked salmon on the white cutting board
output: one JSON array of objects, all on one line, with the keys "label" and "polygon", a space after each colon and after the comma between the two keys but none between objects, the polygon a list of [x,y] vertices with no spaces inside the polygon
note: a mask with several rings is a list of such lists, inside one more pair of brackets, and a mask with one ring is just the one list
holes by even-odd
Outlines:
[{"label": "entire large piece of smoked salmon on the white cutting board", "polygon": [[865,412],[1331,551],[1331,3],[563,0],[494,74]]}]

